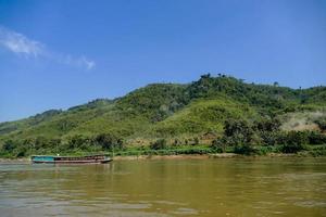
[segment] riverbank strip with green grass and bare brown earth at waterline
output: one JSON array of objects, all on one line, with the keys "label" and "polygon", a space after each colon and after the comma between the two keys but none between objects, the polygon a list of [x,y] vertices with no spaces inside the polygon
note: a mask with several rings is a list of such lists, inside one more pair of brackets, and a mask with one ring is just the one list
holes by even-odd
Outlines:
[{"label": "riverbank strip with green grass and bare brown earth at waterline", "polygon": [[[288,146],[287,146],[288,148]],[[297,148],[297,146],[294,146]],[[269,146],[212,146],[212,145],[178,145],[178,146],[166,146],[165,149],[151,149],[150,146],[128,146],[123,149],[116,149],[111,151],[96,151],[96,150],[70,150],[66,151],[57,151],[50,150],[46,152],[35,151],[30,152],[27,155],[21,156],[17,158],[16,154],[7,154],[0,155],[0,162],[8,159],[21,159],[27,158],[29,155],[57,155],[60,153],[61,156],[85,156],[93,154],[104,154],[109,156],[114,156],[116,159],[142,159],[142,158],[208,158],[208,157],[235,157],[235,156],[326,156],[326,145],[314,145],[309,144],[298,149],[285,149],[284,145],[269,145]]]}]

